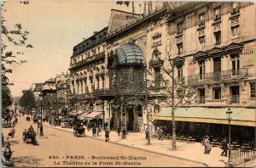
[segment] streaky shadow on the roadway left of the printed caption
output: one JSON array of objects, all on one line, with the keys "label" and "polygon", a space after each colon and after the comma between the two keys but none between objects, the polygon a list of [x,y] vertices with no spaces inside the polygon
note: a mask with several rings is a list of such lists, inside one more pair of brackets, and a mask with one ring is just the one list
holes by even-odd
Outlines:
[{"label": "streaky shadow on the roadway left of the printed caption", "polygon": [[33,156],[14,157],[12,160],[17,167],[38,167],[42,161]]}]

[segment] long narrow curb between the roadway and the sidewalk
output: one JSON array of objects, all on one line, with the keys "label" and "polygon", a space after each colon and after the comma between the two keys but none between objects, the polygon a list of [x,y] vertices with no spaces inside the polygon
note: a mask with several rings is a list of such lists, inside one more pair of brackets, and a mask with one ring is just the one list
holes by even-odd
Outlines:
[{"label": "long narrow curb between the roadway and the sidewalk", "polygon": [[[46,126],[46,127],[54,128],[54,129],[56,129],[56,130],[60,130],[60,131],[63,131],[63,132],[72,133],[72,132],[67,131],[67,130],[62,130],[62,129],[58,128],[58,127],[52,127],[52,126]],[[100,138],[97,138],[97,137],[91,137],[91,136],[87,136],[87,135],[86,135],[86,137],[90,137],[90,138],[92,138],[92,139],[96,139],[96,140],[105,142],[105,140],[100,139]],[[202,162],[200,162],[200,161],[195,161],[195,160],[189,160],[189,159],[181,158],[181,157],[174,156],[174,155],[171,155],[171,154],[163,154],[163,153],[155,152],[155,151],[148,150],[148,149],[145,149],[145,148],[138,148],[138,147],[135,147],[135,146],[131,146],[131,145],[127,145],[127,144],[122,144],[122,143],[115,143],[115,142],[111,142],[111,141],[108,141],[108,143],[118,144],[118,145],[121,145],[121,146],[124,146],[124,147],[128,147],[128,148],[136,148],[136,149],[138,149],[138,150],[143,150],[143,151],[146,151],[146,152],[149,152],[149,153],[160,154],[160,155],[164,155],[164,156],[167,156],[167,157],[172,157],[172,158],[175,158],[175,159],[178,159],[178,160],[187,160],[187,161],[191,161],[191,162],[194,162],[194,163],[197,163],[197,164],[206,165],[207,167],[210,167],[210,166],[207,165],[206,163],[202,163]]]}]

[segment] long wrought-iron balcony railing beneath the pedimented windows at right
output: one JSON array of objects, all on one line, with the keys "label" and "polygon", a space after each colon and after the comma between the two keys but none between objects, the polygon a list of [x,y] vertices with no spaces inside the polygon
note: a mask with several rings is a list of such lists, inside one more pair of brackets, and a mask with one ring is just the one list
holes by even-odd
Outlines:
[{"label": "long wrought-iron balcony railing beneath the pedimented windows at right", "polygon": [[207,74],[188,76],[188,83],[211,82],[211,81],[228,81],[235,79],[244,79],[248,76],[248,69],[241,68],[237,70],[223,70]]}]

